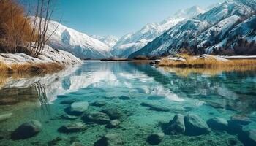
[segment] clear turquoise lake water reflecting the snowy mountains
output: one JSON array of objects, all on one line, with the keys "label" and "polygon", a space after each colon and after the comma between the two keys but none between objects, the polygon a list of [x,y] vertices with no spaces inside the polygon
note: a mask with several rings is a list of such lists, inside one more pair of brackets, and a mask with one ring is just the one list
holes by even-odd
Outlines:
[{"label": "clear turquoise lake water reflecting the snowy mountains", "polygon": [[[88,101],[88,110],[71,112],[65,104],[70,99]],[[112,115],[106,112],[111,110]],[[118,119],[120,125],[110,128],[106,120],[88,118],[99,112]],[[158,145],[251,145],[243,136],[256,129],[256,72],[184,75],[147,63],[86,61],[45,77],[5,80],[0,115],[8,113],[12,116],[0,122],[2,146],[104,145],[99,139],[105,134],[118,134],[123,145],[151,145],[147,137],[159,132],[165,136]],[[70,120],[65,114],[77,117]],[[167,134],[166,126],[176,114],[197,115],[204,123],[219,117],[229,123],[223,131],[210,127],[208,134],[197,136]],[[236,122],[246,123],[230,126],[232,116],[238,117]],[[42,123],[36,136],[11,137],[16,128],[33,119]],[[75,122],[85,123],[86,130],[61,131],[61,126]]]}]

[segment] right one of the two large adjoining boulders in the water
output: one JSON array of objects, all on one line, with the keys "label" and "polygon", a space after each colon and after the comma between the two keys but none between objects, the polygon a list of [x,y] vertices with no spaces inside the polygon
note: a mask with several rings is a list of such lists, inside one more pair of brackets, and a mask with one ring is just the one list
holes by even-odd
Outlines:
[{"label": "right one of the two large adjoining boulders in the water", "polygon": [[186,128],[185,132],[187,135],[197,136],[202,134],[209,134],[211,132],[206,122],[198,115],[188,114],[184,118],[184,122]]}]

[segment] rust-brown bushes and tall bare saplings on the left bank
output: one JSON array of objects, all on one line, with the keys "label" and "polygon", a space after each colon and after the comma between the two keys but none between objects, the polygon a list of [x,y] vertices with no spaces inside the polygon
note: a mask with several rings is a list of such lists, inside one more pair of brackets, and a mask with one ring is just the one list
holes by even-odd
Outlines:
[{"label": "rust-brown bushes and tall bare saplings on the left bank", "polygon": [[[38,57],[45,49],[50,18],[53,15],[52,0],[38,0],[28,12],[15,0],[0,1],[0,52],[26,53]],[[29,15],[34,15],[33,20]]]}]

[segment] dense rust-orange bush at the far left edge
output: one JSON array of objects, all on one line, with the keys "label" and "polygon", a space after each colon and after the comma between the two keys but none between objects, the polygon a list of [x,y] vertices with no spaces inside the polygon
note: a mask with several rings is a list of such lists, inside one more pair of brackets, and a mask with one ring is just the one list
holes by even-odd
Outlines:
[{"label": "dense rust-orange bush at the far left edge", "polygon": [[[14,0],[0,1],[0,38],[1,45],[6,43],[4,51],[7,53],[18,53],[18,46],[25,42],[33,41],[34,37],[29,38],[32,29],[29,19],[25,17],[23,7]],[[5,43],[4,43],[4,40]]]}]

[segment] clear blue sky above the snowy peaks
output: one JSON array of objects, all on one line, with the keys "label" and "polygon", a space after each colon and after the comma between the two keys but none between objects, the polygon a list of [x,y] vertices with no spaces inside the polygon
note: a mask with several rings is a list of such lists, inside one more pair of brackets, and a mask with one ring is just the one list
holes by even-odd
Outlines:
[{"label": "clear blue sky above the snowy peaks", "polygon": [[178,9],[207,7],[223,0],[59,0],[62,24],[86,34],[121,37],[146,23],[160,22]]}]

